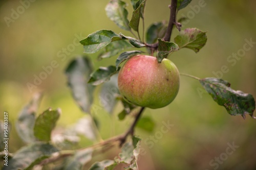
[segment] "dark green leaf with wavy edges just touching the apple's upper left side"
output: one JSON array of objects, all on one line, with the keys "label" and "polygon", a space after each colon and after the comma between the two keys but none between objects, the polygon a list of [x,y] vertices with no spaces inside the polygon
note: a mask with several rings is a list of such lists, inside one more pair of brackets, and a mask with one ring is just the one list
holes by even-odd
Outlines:
[{"label": "dark green leaf with wavy edges just touching the apple's upper left side", "polygon": [[99,85],[104,82],[108,82],[112,75],[116,74],[118,71],[115,66],[108,67],[99,67],[96,71],[91,74],[91,78],[88,83],[92,83],[93,85]]}]

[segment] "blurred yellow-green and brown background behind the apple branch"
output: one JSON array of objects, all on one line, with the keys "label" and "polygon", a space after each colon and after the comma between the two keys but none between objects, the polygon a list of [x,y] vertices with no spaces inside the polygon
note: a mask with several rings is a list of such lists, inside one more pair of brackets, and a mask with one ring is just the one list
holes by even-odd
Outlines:
[{"label": "blurred yellow-green and brown background behind the apple branch", "polygon": [[[61,108],[58,127],[68,127],[83,117],[84,114],[72,99],[64,74],[69,62],[75,56],[83,55],[82,45],[76,45],[68,51],[63,60],[58,57],[58,53],[63,54],[62,49],[73,44],[73,41],[77,43],[102,29],[132,36],[106,17],[104,8],[108,2],[109,0],[35,1],[9,23],[4,18],[11,17],[12,9],[17,11],[22,4],[20,1],[0,2],[0,108],[2,112],[9,113],[9,122],[12,124],[9,141],[11,153],[25,145],[17,136],[14,124],[19,111],[35,92],[44,92],[38,114],[48,107]],[[131,18],[132,6],[129,1],[125,2],[129,3],[127,9]],[[251,93],[255,98],[256,44],[252,44],[250,50],[236,60],[236,64],[231,65],[227,58],[232,53],[241,52],[245,39],[256,42],[256,1],[205,0],[204,7],[196,8],[199,2],[202,1],[192,1],[179,12],[177,18],[189,18],[188,23],[183,25],[183,30],[198,28],[208,31],[206,45],[198,54],[184,48],[172,54],[169,59],[180,72],[199,78],[215,77],[213,71],[220,71],[226,65],[229,71],[221,78],[230,82],[233,89]],[[169,4],[170,0],[147,0],[146,28],[153,22],[168,20]],[[175,29],[172,41],[177,34]],[[114,65],[117,56],[98,61],[98,54],[90,55],[95,68]],[[42,67],[50,65],[53,60],[58,62],[58,67],[30,92],[27,83],[33,83],[34,75],[38,76],[44,71]],[[136,129],[136,134],[142,137],[142,148],[146,153],[140,157],[140,170],[256,169],[256,120],[248,115],[245,120],[241,116],[230,116],[207,93],[200,94],[198,91],[201,89],[198,81],[181,77],[180,91],[172,104],[157,110],[145,110],[143,116],[152,117],[156,126],[151,133]],[[95,96],[96,101],[97,97]],[[121,134],[131,124],[131,118],[122,122],[117,120],[116,115],[121,110],[122,107],[118,104],[112,116],[103,109],[98,112],[103,139]],[[2,113],[0,118],[3,119]],[[169,122],[173,127],[158,137],[157,142],[149,144],[153,141],[151,137],[159,135],[163,121]],[[226,158],[223,153],[226,153],[228,143],[234,143],[239,148]],[[87,141],[80,145],[85,147]],[[113,159],[118,151],[117,148],[113,149],[93,161]],[[221,163],[211,161],[220,156],[225,158]],[[216,164],[212,165],[210,162]]]}]

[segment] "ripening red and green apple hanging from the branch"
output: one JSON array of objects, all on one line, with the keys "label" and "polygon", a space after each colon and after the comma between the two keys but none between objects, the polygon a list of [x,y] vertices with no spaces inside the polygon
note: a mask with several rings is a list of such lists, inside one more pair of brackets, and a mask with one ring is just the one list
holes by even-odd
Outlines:
[{"label": "ripening red and green apple hanging from the branch", "polygon": [[180,74],[174,63],[153,56],[137,55],[127,60],[118,75],[123,98],[134,105],[152,109],[170,104],[180,87]]}]

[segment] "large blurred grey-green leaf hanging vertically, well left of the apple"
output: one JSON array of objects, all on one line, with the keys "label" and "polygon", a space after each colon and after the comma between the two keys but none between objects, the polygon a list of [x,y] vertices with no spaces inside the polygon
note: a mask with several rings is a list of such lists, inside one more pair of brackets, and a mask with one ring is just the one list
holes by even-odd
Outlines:
[{"label": "large blurred grey-green leaf hanging vertically, well left of the apple", "polygon": [[87,57],[78,57],[70,62],[66,69],[68,84],[73,98],[83,112],[90,113],[93,103],[93,91],[95,86],[88,84],[90,74],[93,71],[92,62]]}]

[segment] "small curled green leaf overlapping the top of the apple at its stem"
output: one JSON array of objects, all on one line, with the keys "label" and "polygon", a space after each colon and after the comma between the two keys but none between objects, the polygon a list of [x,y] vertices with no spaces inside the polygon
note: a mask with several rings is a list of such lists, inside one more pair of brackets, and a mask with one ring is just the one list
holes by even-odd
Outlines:
[{"label": "small curled green leaf overlapping the top of the apple at its stem", "polygon": [[157,62],[161,63],[170,52],[178,51],[179,46],[174,42],[163,41],[158,38]]}]

